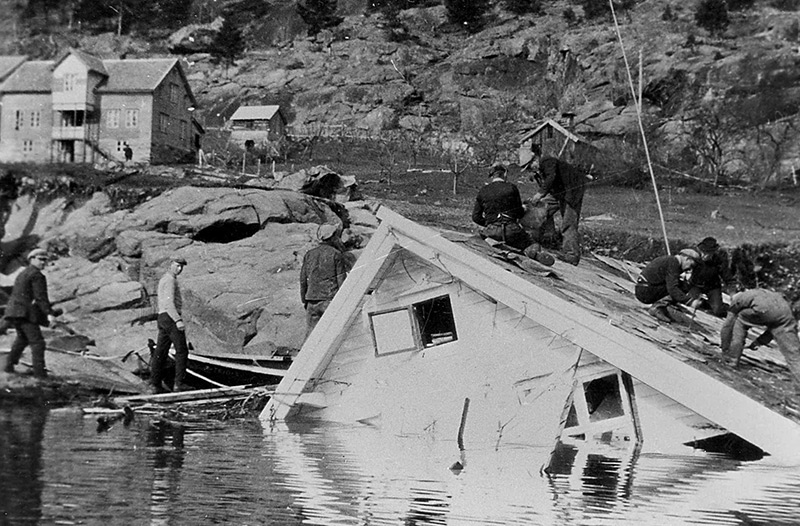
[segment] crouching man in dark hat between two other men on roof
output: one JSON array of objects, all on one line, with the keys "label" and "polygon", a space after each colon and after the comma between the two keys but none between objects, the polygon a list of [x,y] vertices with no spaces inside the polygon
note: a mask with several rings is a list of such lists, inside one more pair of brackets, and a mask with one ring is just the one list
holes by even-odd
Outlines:
[{"label": "crouching man in dark hat between two other men on roof", "polygon": [[692,268],[689,293],[695,297],[705,295],[711,313],[724,317],[727,305],[722,301],[722,286],[732,280],[728,255],[713,237],[703,239],[696,248],[700,259]]}]

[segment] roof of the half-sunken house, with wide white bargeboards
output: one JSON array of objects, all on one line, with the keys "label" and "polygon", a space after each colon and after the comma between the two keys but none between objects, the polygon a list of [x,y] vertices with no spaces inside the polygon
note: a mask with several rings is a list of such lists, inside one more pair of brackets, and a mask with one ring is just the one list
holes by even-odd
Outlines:
[{"label": "roof of the half-sunken house, with wide white bargeboards", "polygon": [[764,451],[794,460],[800,455],[800,425],[775,392],[778,378],[793,385],[780,354],[774,348],[748,350],[751,360],[773,371],[741,382],[749,372],[731,370],[717,359],[721,320],[697,312],[691,320],[685,315],[686,324],[660,324],[633,295],[637,265],[587,254],[577,267],[560,261],[544,267],[475,236],[423,227],[385,207],[378,218],[380,227],[331,304],[337,315],[320,320],[278,387],[281,396],[272,406],[277,418],[330,359],[360,299],[401,247]]}]

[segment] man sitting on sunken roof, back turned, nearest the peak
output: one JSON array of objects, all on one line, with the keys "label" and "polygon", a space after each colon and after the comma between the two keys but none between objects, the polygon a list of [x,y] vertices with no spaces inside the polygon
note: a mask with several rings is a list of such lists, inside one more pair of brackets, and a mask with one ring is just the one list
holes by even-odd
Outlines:
[{"label": "man sitting on sunken roof, back turned, nearest the peak", "polygon": [[481,234],[510,247],[525,250],[530,237],[519,224],[525,215],[522,198],[516,185],[506,181],[508,170],[495,165],[489,172],[491,181],[478,191],[472,208],[472,221],[482,226]]}]

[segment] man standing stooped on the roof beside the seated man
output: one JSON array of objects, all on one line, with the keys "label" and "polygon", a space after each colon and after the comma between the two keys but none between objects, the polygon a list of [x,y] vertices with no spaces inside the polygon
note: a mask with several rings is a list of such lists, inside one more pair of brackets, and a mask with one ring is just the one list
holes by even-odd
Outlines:
[{"label": "man standing stooped on the roof beside the seated man", "polygon": [[546,245],[548,240],[556,237],[554,216],[560,211],[562,254],[559,257],[567,263],[577,265],[581,260],[578,223],[589,178],[570,163],[549,155],[541,156],[537,151],[533,153],[533,158],[526,167],[533,170],[533,179],[539,184],[539,191],[528,203],[535,206],[545,197],[552,198],[545,201],[546,216],[536,241]]}]

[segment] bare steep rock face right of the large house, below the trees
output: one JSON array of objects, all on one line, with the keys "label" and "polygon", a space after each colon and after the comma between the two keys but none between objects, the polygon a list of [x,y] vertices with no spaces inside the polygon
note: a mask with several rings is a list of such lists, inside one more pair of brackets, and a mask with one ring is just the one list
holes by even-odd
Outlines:
[{"label": "bare steep rock face right of the large house, below the trees", "polygon": [[[800,56],[791,31],[797,13],[750,10],[737,15],[725,38],[711,38],[697,27],[691,8],[673,7],[671,20],[663,20],[660,3],[637,4],[620,15],[637,91],[641,60],[642,109],[654,149],[690,170],[702,162],[692,151],[699,146],[691,144],[697,112],[723,108],[731,128],[753,130],[724,138],[730,157],[743,153],[755,171],[790,173],[800,156],[796,137],[783,137],[777,153],[765,151],[758,137],[782,131],[776,120],[797,120]],[[638,140],[634,95],[613,23],[570,24],[563,6],[545,9],[531,17],[499,10],[474,35],[448,30],[442,6],[401,12],[399,32],[378,15],[349,16],[316,38],[298,36],[253,52],[227,74],[200,59],[189,75],[209,126],[241,103],[281,101],[298,129],[343,126],[373,135],[404,129],[425,133],[433,144],[479,129],[501,109],[519,129],[569,111],[576,114],[576,131],[601,143]],[[776,155],[776,167],[752,168],[759,157]],[[745,168],[726,166],[748,176]]]}]

